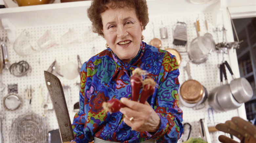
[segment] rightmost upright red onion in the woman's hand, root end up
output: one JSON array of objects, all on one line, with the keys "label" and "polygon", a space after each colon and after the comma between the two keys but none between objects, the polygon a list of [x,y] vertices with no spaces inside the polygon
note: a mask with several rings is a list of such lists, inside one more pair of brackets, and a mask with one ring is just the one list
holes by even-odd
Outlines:
[{"label": "rightmost upright red onion in the woman's hand, root end up", "polygon": [[153,79],[146,78],[143,81],[143,87],[142,87],[139,103],[145,104],[148,97],[155,92],[155,89],[156,89],[156,82]]}]

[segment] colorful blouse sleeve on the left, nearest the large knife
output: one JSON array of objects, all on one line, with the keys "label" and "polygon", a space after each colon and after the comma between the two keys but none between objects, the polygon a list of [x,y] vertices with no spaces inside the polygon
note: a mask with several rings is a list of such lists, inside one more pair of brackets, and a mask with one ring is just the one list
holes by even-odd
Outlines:
[{"label": "colorful blouse sleeve on the left, nearest the large knife", "polygon": [[75,135],[75,139],[72,141],[75,141],[76,143],[88,143],[89,140],[85,137],[84,133],[84,127],[86,126],[86,121],[88,111],[85,111],[84,109],[88,104],[86,103],[87,96],[85,96],[85,87],[86,83],[89,82],[90,77],[87,75],[87,66],[86,62],[82,65],[81,67],[81,72],[80,72],[80,92],[79,92],[79,111],[75,114],[75,117],[73,119],[73,132]]}]

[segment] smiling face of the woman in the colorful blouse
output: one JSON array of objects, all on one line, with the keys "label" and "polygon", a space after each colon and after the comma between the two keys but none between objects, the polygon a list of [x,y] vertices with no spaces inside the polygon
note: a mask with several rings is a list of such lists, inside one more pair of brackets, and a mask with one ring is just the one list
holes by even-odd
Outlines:
[{"label": "smiling face of the woman in the colorful blouse", "polygon": [[109,48],[122,62],[129,63],[139,52],[143,31],[135,9],[108,8],[101,13],[101,19]]}]

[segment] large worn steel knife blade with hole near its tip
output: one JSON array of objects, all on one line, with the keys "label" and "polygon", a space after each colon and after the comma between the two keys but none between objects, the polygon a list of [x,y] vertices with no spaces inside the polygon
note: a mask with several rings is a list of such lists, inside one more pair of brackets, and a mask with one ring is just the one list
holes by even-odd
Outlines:
[{"label": "large worn steel knife blade with hole near its tip", "polygon": [[61,82],[54,74],[44,71],[45,83],[49,91],[53,109],[57,118],[59,132],[63,143],[74,139],[69,111]]}]

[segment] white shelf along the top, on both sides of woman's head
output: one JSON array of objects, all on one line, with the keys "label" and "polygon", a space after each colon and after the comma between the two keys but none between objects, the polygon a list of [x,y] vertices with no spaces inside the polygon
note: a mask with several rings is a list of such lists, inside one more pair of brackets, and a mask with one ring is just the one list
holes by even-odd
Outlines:
[{"label": "white shelf along the top, on both sides of woman's head", "polygon": [[[213,11],[219,3],[195,5],[188,1],[148,0],[150,16],[172,15],[177,13]],[[15,27],[85,22],[87,8],[91,0],[53,3],[24,7],[1,8],[0,19],[7,18]],[[3,28],[3,27],[2,27]]]}]

